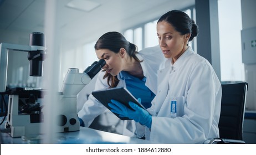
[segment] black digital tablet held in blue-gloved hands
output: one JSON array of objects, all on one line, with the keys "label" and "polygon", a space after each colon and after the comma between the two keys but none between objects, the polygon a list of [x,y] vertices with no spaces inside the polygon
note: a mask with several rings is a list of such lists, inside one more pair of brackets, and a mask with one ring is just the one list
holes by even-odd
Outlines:
[{"label": "black digital tablet held in blue-gloved hands", "polygon": [[[109,110],[111,110],[111,107],[109,107],[109,105],[107,104],[109,104],[111,102],[110,100],[112,99],[121,102],[122,104],[124,104],[126,107],[130,109],[132,108],[129,105],[129,101],[132,101],[138,106],[140,106],[141,108],[144,108],[146,110],[146,108],[142,106],[137,101],[137,99],[134,96],[132,96],[131,92],[129,92],[129,90],[127,90],[125,87],[115,87],[115,88],[106,89],[106,90],[93,91],[91,94],[93,94],[93,96]],[[114,113],[114,114],[117,117],[119,117],[119,114],[117,113]],[[130,120],[130,118],[127,118],[127,117],[119,117],[119,118],[121,120]]]}]

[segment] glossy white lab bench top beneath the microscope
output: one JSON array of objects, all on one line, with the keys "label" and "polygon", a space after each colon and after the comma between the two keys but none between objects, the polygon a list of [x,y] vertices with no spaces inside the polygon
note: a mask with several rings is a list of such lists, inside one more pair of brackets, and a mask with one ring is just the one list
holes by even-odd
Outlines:
[{"label": "glossy white lab bench top beneath the microscope", "polygon": [[[2,128],[3,130],[3,128]],[[12,138],[9,133],[1,132],[3,143],[7,144],[27,144],[42,143],[44,135],[37,137],[17,137]],[[57,144],[152,144],[152,142],[135,137],[128,137],[116,133],[94,130],[92,128],[80,127],[80,131],[55,133]]]}]

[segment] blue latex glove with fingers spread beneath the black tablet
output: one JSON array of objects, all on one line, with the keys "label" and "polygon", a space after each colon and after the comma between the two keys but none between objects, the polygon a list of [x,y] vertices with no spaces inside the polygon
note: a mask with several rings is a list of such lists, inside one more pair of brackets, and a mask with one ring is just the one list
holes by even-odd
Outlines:
[{"label": "blue latex glove with fingers spread beneath the black tablet", "polygon": [[[138,101],[140,102],[140,99],[138,99]],[[135,122],[139,122],[141,125],[151,128],[152,116],[149,112],[139,107],[134,102],[129,102],[129,105],[134,110],[127,108],[125,105],[116,100],[111,100],[111,103],[108,105],[111,107],[111,111],[119,114],[120,117],[128,117]]]}]

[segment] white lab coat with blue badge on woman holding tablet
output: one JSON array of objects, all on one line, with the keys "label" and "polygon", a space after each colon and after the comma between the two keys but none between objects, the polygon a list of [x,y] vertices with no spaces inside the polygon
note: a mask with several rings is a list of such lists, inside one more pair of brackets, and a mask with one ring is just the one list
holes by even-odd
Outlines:
[{"label": "white lab coat with blue badge on woman holding tablet", "polygon": [[[188,48],[171,65],[158,70],[157,95],[148,110],[151,129],[136,123],[137,136],[160,143],[204,143],[219,136],[221,83],[211,64]],[[171,117],[171,100],[177,100],[177,117]]]}]

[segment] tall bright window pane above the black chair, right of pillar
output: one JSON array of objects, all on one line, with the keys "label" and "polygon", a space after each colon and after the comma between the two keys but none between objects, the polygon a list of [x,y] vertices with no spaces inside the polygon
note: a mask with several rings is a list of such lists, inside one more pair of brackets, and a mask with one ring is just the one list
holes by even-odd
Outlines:
[{"label": "tall bright window pane above the black chair, right of pillar", "polygon": [[218,14],[221,81],[244,81],[240,34],[240,30],[242,30],[240,0],[218,1]]}]

